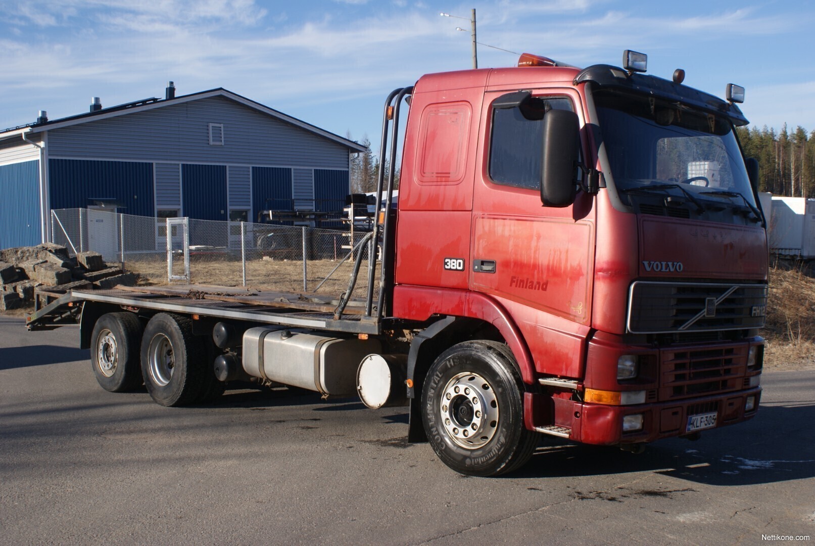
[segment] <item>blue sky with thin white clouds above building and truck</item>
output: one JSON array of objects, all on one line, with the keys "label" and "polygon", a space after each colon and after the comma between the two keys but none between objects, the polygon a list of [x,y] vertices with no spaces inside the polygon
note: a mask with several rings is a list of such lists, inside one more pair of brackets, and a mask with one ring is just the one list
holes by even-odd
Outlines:
[{"label": "blue sky with thin white clouds above building and truck", "polygon": [[[0,0],[0,128],[224,87],[376,150],[390,90],[424,73],[479,68],[516,53],[615,64],[723,97],[746,88],[751,126],[815,130],[810,0]],[[447,12],[463,19],[443,17]],[[456,31],[460,26],[466,32]],[[492,46],[492,47],[489,47]]]}]

